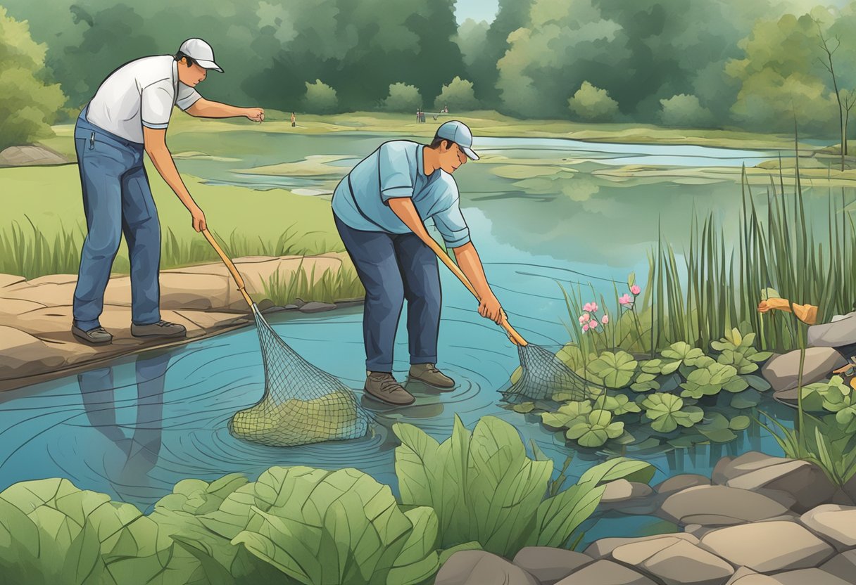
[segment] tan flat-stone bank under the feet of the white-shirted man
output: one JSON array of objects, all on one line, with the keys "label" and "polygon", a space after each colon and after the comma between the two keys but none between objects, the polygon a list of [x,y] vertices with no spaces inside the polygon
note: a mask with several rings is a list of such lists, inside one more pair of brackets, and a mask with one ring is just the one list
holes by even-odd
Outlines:
[{"label": "tan flat-stone bank under the feet of the white-shirted man", "polygon": [[[312,298],[277,306],[265,285],[278,273],[288,282],[298,271],[321,280],[328,270],[350,264],[339,253],[316,257],[242,257],[235,265],[247,283],[247,292],[263,311],[295,310],[305,313],[359,304],[342,299],[335,304]],[[314,270],[313,270],[314,269]],[[310,276],[312,275],[312,276]],[[161,316],[187,328],[182,340],[140,340],[130,334],[131,283],[128,276],[110,279],[104,296],[101,324],[114,335],[109,346],[87,346],[71,334],[71,303],[76,275],[50,275],[27,281],[0,275],[0,391],[46,381],[96,363],[154,347],[176,346],[246,327],[253,322],[247,303],[221,263],[161,271]],[[306,295],[309,296],[309,295]]]}]

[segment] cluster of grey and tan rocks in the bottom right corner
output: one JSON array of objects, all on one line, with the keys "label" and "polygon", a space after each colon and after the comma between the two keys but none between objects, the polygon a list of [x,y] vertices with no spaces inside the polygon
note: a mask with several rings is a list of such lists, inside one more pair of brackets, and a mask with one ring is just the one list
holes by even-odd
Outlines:
[{"label": "cluster of grey and tan rocks in the bottom right corner", "polygon": [[641,485],[624,480],[609,484],[602,507],[654,513],[683,532],[603,538],[585,552],[526,547],[514,559],[456,552],[436,583],[856,583],[856,486],[835,488],[814,464],[748,452],[722,458],[712,480],[687,474],[653,489]]}]

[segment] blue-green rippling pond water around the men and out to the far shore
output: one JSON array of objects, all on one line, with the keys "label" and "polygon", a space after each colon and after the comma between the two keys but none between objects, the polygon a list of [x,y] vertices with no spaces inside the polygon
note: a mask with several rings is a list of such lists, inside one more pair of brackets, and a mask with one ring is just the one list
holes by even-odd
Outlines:
[{"label": "blue-green rippling pond water around the men and out to the far shore", "polygon": [[[310,153],[359,157],[384,139],[363,133],[267,134],[240,162],[190,159],[180,161],[179,168],[206,180],[241,180],[270,187],[276,182],[270,176],[241,174],[241,170],[298,162]],[[182,140],[187,141],[187,150],[201,150],[192,136]],[[476,146],[486,162],[469,164],[455,174],[473,241],[510,322],[530,342],[552,349],[568,340],[564,324],[568,314],[560,283],[591,283],[596,291],[611,296],[614,283],[626,287],[621,283],[635,270],[644,287],[645,253],[656,242],[658,225],[680,250],[693,210],[713,210],[728,219],[740,202],[740,186],[731,181],[708,185],[614,183],[599,179],[592,170],[618,160],[624,161],[621,164],[668,160],[670,165],[686,167],[718,161],[734,166],[777,156],[694,146],[549,139],[480,139]],[[175,145],[173,148],[177,150]],[[211,145],[206,151],[213,156],[239,156],[229,152],[228,145]],[[490,156],[590,160],[550,188],[534,185],[529,189],[529,184],[521,186],[519,180],[492,173]],[[592,162],[595,159],[598,162]],[[306,186],[324,184],[315,178],[302,180]],[[294,464],[328,469],[353,466],[395,489],[392,424],[413,423],[442,440],[450,433],[454,414],[470,428],[479,417],[501,417],[519,428],[526,440],[535,440],[561,467],[572,452],[561,435],[546,431],[532,417],[502,409],[499,402],[497,390],[518,365],[515,347],[500,329],[479,317],[473,298],[448,271],[442,275],[440,365],[459,386],[452,393],[412,388],[417,402],[407,408],[387,408],[363,399],[377,419],[372,436],[288,449],[232,437],[226,427],[229,418],[257,402],[264,390],[259,340],[254,328],[244,328],[169,352],[124,358],[80,375],[0,394],[0,489],[24,480],[62,476],[79,488],[109,493],[145,510],[185,477],[211,481],[241,472],[255,479],[271,465]],[[359,309],[343,309],[317,316],[280,313],[271,316],[270,323],[302,357],[348,386],[361,388],[365,359],[361,318]],[[396,342],[395,374],[399,379],[407,372],[403,322]],[[787,424],[790,413],[785,407],[764,403],[764,409],[776,412]],[[654,482],[659,482],[678,473],[710,474],[713,464],[726,454],[749,450],[781,453],[775,440],[757,426],[739,435],[738,440],[724,445],[643,452],[634,457],[650,460],[657,467]],[[570,476],[580,476],[600,457],[595,452],[577,453]],[[656,519],[648,517],[604,518],[589,530],[586,541],[604,535],[643,534],[656,525]]]}]

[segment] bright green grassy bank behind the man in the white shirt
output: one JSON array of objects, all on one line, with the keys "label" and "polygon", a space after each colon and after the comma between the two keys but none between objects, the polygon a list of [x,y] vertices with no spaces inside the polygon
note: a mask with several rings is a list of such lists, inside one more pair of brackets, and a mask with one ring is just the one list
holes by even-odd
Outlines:
[{"label": "bright green grassy bank behind the man in the white shirt", "polygon": [[[149,172],[157,176],[153,169]],[[205,210],[211,231],[233,257],[343,251],[328,201],[279,189],[205,185],[187,176],[185,182]],[[163,230],[162,268],[217,262],[217,253],[193,231],[187,210],[169,187],[162,180],[152,180],[152,191]],[[27,278],[76,273],[86,233],[76,166],[0,169],[0,192],[4,193],[6,220],[0,226],[0,272]],[[122,243],[114,271],[127,274],[128,268],[128,252]],[[350,283],[348,290],[341,296],[330,289],[346,282]],[[325,297],[359,296],[354,295],[359,290],[353,284],[352,267],[328,275],[324,283]]]}]

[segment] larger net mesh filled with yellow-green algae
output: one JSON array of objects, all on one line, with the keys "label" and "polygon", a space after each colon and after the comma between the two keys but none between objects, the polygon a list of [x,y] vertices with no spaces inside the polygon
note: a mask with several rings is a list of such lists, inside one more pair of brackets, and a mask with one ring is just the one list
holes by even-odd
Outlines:
[{"label": "larger net mesh filled with yellow-green algae", "polygon": [[258,307],[253,316],[265,364],[265,395],[235,413],[229,431],[269,446],[297,446],[366,436],[371,417],[354,392],[294,352]]}]

